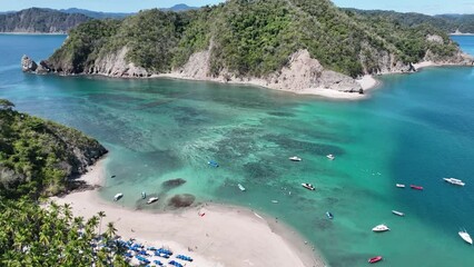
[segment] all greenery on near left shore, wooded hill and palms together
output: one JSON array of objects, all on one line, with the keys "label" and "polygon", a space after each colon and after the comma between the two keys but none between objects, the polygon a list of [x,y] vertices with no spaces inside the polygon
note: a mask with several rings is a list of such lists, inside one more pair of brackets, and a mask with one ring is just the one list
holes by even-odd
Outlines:
[{"label": "all greenery on near left shore, wooded hill and palms together", "polygon": [[115,225],[102,228],[105,212],[86,220],[70,205],[39,201],[69,189],[70,176],[107,150],[6,99],[0,126],[0,266],[128,266]]}]

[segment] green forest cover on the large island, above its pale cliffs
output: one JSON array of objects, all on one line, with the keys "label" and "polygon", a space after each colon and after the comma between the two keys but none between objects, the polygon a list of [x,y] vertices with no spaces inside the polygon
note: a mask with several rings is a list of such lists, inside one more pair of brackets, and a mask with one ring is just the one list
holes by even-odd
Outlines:
[{"label": "green forest cover on the large island, above its pale cliffs", "polygon": [[[428,36],[438,36],[433,42]],[[263,77],[307,49],[327,69],[356,77],[378,71],[381,58],[409,63],[458,51],[443,29],[384,16],[344,11],[329,0],[229,0],[186,12],[140,11],[73,29],[48,60],[66,73],[89,72],[98,59],[127,48],[126,59],[149,72],[169,72],[195,52],[210,52],[210,73]]]}]

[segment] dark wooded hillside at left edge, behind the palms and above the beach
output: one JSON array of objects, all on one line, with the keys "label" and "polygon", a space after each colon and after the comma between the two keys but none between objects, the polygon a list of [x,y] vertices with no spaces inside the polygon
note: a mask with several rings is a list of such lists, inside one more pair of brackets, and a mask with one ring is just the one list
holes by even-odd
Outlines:
[{"label": "dark wooded hillside at left edge, behind the palms and above the beach", "polygon": [[0,99],[0,197],[37,199],[70,189],[107,150],[81,132],[14,111]]}]

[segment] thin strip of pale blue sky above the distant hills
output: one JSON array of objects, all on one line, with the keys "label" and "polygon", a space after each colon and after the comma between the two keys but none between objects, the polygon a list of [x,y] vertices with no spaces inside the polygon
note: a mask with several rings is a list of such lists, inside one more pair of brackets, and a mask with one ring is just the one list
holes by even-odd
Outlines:
[{"label": "thin strip of pale blue sky above the distant hills", "polygon": [[[384,9],[402,12],[474,13],[474,0],[333,0],[339,7]],[[96,11],[135,12],[140,9],[168,8],[176,3],[200,7],[221,0],[0,0],[0,11],[31,7],[66,9],[82,8]]]}]

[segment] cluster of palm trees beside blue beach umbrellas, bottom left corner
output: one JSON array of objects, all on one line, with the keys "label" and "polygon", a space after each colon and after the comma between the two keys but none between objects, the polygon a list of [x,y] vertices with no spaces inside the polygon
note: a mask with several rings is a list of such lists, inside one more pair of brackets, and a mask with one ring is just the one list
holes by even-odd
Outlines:
[{"label": "cluster of palm trees beside blue beach umbrellas, bottom left corner", "polygon": [[0,198],[1,266],[128,266],[109,222],[73,217],[69,205],[41,208],[30,199]]}]

